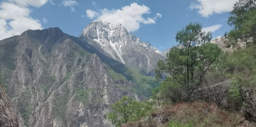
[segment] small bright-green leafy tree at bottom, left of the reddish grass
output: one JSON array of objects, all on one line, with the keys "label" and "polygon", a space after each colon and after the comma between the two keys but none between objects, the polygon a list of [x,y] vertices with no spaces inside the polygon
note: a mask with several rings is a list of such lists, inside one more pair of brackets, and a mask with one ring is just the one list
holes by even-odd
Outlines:
[{"label": "small bright-green leafy tree at bottom, left of the reddish grass", "polygon": [[107,118],[116,127],[122,127],[122,124],[130,121],[137,121],[152,110],[152,106],[147,102],[138,102],[127,96],[116,101],[115,104],[111,105],[111,108],[113,111],[107,114]]}]

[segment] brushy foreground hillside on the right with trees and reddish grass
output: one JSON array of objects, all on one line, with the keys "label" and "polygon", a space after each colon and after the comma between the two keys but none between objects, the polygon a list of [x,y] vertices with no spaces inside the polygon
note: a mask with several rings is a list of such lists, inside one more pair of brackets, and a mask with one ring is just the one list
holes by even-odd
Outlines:
[{"label": "brushy foreground hillside on the right with trees and reddish grass", "polygon": [[256,1],[236,2],[228,24],[234,28],[224,35],[225,47],[235,46],[239,39],[246,42],[245,48],[223,52],[210,43],[211,32],[190,23],[177,32],[179,45],[170,49],[166,61],[157,63],[161,85],[152,90],[151,106],[158,110],[118,124],[108,119],[117,127],[254,127]]}]

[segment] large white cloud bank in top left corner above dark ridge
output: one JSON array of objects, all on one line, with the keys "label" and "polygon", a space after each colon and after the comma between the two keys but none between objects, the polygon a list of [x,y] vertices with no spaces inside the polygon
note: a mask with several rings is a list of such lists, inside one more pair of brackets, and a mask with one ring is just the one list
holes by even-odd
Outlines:
[{"label": "large white cloud bank in top left corner above dark ridge", "polygon": [[6,0],[6,2],[1,2],[0,40],[13,35],[20,35],[28,29],[42,29],[43,27],[40,21],[30,16],[31,10],[28,6],[41,7],[47,1],[48,0]]}]

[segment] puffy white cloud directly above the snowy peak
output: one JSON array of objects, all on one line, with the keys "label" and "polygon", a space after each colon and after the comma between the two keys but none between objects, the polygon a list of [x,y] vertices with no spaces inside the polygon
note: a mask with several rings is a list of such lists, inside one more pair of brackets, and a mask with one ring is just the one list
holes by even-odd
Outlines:
[{"label": "puffy white cloud directly above the snowy peak", "polygon": [[93,19],[98,18],[109,23],[121,23],[129,32],[134,32],[140,28],[140,24],[155,24],[157,18],[161,18],[162,14],[157,13],[154,18],[144,18],[143,14],[150,14],[150,8],[145,5],[132,3],[130,6],[122,7],[122,9],[108,10],[106,8],[99,12],[86,10],[87,17]]}]

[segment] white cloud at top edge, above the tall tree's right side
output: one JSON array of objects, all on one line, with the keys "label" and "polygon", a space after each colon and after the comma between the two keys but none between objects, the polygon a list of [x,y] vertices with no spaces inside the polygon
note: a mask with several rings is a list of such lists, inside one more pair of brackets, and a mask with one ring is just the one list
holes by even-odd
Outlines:
[{"label": "white cloud at top edge, above the tall tree's right side", "polygon": [[221,14],[232,11],[237,0],[197,0],[198,3],[191,3],[191,10],[197,9],[202,17],[208,18],[212,14]]}]

